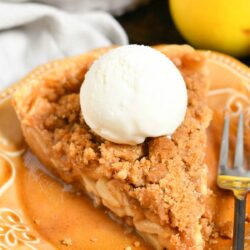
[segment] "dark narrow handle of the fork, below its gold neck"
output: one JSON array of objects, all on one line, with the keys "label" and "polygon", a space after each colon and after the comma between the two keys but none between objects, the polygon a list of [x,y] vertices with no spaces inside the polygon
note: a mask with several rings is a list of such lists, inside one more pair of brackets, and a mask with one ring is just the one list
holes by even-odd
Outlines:
[{"label": "dark narrow handle of the fork, below its gold neck", "polygon": [[244,250],[246,197],[235,197],[233,250]]}]

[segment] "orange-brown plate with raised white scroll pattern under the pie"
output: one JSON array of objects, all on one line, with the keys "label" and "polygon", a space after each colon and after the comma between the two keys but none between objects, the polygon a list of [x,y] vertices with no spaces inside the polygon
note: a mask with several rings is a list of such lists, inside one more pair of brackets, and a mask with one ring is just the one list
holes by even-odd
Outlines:
[{"label": "orange-brown plate with raised white scroll pattern under the pie", "polygon": [[[209,184],[214,190],[209,202],[217,227],[228,235],[232,234],[233,197],[218,190],[215,183],[222,112],[225,107],[231,109],[236,120],[239,109],[244,108],[249,152],[250,69],[231,57],[204,53],[212,75],[209,103],[214,110],[207,147]],[[0,249],[150,249],[135,233],[112,221],[105,210],[94,208],[88,197],[41,170],[43,166],[26,148],[11,106],[16,87],[0,93]],[[235,124],[232,140],[234,128]],[[250,202],[247,212],[250,220]],[[229,239],[219,237],[208,248],[230,246]],[[246,249],[250,249],[248,224]]]}]

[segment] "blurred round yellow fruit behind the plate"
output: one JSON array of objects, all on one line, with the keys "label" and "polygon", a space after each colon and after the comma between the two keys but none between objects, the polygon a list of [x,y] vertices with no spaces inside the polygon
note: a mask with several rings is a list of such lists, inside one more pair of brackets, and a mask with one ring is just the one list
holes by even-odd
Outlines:
[{"label": "blurred round yellow fruit behind the plate", "polygon": [[197,48],[250,55],[250,0],[169,0],[173,20]]}]

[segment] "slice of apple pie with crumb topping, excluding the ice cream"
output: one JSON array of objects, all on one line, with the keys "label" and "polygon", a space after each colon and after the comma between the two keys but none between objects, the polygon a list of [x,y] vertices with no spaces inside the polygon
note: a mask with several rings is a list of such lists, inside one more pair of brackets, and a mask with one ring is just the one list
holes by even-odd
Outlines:
[{"label": "slice of apple pie with crumb topping, excluding the ice cream", "polygon": [[155,249],[203,249],[212,230],[205,209],[211,119],[205,58],[189,46],[155,47],[181,71],[186,116],[171,138],[124,145],[95,134],[80,108],[86,72],[110,49],[46,64],[21,81],[13,103],[26,141],[55,175],[85,190]]}]

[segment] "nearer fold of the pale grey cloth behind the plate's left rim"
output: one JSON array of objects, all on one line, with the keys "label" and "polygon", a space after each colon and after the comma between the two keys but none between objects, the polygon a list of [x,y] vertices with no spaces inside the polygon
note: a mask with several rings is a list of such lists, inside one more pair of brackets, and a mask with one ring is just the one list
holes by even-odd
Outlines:
[{"label": "nearer fold of the pale grey cloth behind the plate's left rim", "polygon": [[0,90],[49,60],[127,43],[124,30],[103,11],[73,14],[45,4],[0,1]]}]

